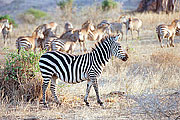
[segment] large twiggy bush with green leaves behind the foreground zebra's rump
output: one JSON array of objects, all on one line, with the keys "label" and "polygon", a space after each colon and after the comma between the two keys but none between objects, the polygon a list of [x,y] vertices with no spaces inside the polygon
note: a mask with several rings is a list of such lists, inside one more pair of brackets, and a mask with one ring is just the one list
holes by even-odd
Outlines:
[{"label": "large twiggy bush with green leaves behind the foreground zebra's rump", "polygon": [[6,55],[6,64],[0,80],[0,96],[9,101],[30,101],[39,97],[41,79],[39,59],[42,52],[21,50],[21,54],[10,52]]}]

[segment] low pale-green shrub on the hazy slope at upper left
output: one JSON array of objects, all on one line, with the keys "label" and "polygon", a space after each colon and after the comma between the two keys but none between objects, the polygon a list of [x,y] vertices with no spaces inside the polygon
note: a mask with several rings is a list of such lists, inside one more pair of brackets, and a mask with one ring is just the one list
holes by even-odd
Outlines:
[{"label": "low pale-green shrub on the hazy slope at upper left", "polygon": [[47,16],[46,12],[43,12],[43,11],[37,10],[37,9],[33,9],[33,8],[28,9],[25,14],[31,14],[36,19],[40,19],[40,18],[43,18],[43,17]]}]

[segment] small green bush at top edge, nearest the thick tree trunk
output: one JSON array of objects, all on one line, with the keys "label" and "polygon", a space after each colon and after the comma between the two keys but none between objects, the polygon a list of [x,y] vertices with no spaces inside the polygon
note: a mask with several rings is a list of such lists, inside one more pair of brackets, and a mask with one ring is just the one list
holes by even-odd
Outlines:
[{"label": "small green bush at top edge, nearest the thick tree trunk", "polygon": [[102,2],[103,11],[107,11],[116,7],[117,7],[117,2],[115,2],[114,0],[104,0]]}]

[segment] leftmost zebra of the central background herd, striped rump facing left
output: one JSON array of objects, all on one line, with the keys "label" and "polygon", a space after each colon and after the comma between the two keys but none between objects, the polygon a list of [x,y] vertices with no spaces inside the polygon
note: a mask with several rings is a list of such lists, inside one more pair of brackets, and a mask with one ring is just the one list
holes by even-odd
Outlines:
[{"label": "leftmost zebra of the central background herd, striped rump facing left", "polygon": [[16,40],[16,48],[18,49],[18,54],[22,48],[26,51],[33,49],[34,52],[36,48],[41,47],[42,42],[38,39],[41,33],[33,32],[32,36],[21,36]]}]

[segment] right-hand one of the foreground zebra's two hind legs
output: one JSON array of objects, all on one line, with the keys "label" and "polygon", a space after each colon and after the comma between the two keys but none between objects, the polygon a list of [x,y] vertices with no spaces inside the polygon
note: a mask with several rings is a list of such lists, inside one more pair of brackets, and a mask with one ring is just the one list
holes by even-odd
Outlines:
[{"label": "right-hand one of the foreground zebra's two hind legs", "polygon": [[57,76],[56,75],[53,75],[52,76],[52,79],[51,79],[51,86],[50,86],[50,90],[51,90],[51,93],[53,94],[53,96],[54,96],[54,99],[55,99],[55,101],[56,101],[56,103],[58,104],[58,105],[61,105],[61,103],[59,102],[59,100],[58,100],[58,98],[57,98],[57,95],[56,95],[56,80],[57,80]]}]

